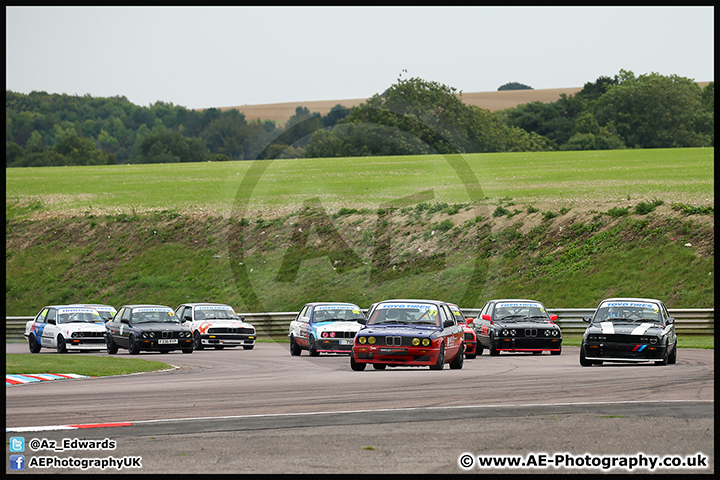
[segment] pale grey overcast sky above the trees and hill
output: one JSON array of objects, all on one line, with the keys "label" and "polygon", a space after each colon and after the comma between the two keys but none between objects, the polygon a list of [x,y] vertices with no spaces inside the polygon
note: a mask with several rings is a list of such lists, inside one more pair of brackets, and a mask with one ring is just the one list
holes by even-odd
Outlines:
[{"label": "pale grey overcast sky above the trees and hill", "polygon": [[[6,89],[187,108],[714,81],[713,7],[6,7]],[[401,77],[402,75],[402,77]]]}]

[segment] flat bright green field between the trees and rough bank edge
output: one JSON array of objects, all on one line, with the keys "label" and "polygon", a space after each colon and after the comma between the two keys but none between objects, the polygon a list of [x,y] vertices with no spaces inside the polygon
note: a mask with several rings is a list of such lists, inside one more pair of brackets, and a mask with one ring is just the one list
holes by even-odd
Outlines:
[{"label": "flat bright green field between the trees and rough bank edge", "polygon": [[147,211],[282,215],[319,198],[329,212],[425,192],[429,202],[598,205],[662,198],[714,203],[714,149],[488,153],[203,164],[6,169],[6,212]]}]

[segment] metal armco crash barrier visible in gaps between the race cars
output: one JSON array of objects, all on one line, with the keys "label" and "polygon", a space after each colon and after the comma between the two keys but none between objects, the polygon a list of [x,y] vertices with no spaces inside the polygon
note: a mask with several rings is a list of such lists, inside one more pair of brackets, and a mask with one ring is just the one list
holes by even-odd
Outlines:
[{"label": "metal armco crash barrier visible in gaps between the race cars", "polygon": [[[594,308],[548,308],[550,313],[558,316],[557,324],[563,333],[573,334],[585,331],[587,323],[583,317],[590,317]],[[479,308],[463,308],[468,318],[477,317]],[[679,334],[713,335],[715,333],[714,308],[669,308],[668,312],[675,318],[675,328]],[[255,326],[260,337],[271,337],[277,340],[287,338],[290,322],[297,312],[274,313],[240,313],[245,320]],[[6,317],[5,339],[17,341],[23,339],[25,323],[33,317]]]}]

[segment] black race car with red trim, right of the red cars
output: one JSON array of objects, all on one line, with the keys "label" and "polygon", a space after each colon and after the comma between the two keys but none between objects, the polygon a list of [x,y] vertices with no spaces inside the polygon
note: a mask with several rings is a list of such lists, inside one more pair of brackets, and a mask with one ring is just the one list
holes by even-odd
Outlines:
[{"label": "black race car with red trim, right of the red cars", "polygon": [[487,348],[490,355],[500,352],[562,353],[562,332],[537,300],[489,300],[474,322],[478,354]]}]

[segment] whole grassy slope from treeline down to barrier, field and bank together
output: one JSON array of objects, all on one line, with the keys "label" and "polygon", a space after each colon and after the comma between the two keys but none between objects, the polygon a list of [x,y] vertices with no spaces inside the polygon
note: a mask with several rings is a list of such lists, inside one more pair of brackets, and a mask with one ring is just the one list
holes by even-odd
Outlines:
[{"label": "whole grassy slope from treeline down to barrier, field and bank together", "polygon": [[6,314],[391,297],[713,307],[713,152],[7,169]]}]

